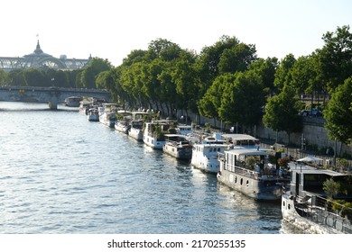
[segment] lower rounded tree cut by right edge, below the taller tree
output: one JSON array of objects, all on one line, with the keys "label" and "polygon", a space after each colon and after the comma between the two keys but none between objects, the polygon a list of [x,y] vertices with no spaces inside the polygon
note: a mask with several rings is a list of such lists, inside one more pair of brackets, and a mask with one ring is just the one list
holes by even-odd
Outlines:
[{"label": "lower rounded tree cut by right edge, below the taller tree", "polygon": [[352,78],[338,85],[331,95],[328,108],[324,111],[325,128],[329,139],[349,144],[352,141]]}]

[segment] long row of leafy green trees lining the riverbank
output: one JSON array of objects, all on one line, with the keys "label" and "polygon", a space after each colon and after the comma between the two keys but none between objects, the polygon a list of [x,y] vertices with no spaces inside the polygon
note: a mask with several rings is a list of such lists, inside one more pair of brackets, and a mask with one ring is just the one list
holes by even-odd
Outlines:
[{"label": "long row of leafy green trees lining the riverbank", "polygon": [[[199,113],[243,129],[259,121],[272,130],[299,132],[302,94],[323,94],[320,108],[330,139],[352,139],[352,34],[349,26],[323,34],[324,46],[309,56],[258,58],[255,45],[223,36],[199,54],[169,40],[134,49],[118,67],[93,58],[73,72],[0,72],[0,83],[106,88],[129,107]],[[4,80],[5,77],[7,80]],[[10,81],[11,80],[11,81]],[[326,98],[325,98],[326,97]],[[329,99],[328,99],[329,98]],[[311,101],[313,102],[313,101]],[[320,103],[320,101],[318,101]],[[303,106],[303,107],[302,107]]]}]

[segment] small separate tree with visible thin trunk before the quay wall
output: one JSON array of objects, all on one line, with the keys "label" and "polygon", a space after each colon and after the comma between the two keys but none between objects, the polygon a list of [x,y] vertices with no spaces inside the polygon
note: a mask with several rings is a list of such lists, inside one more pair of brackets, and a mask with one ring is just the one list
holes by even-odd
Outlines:
[{"label": "small separate tree with visible thin trunk before the quay wall", "polygon": [[275,131],[287,132],[290,144],[290,134],[302,129],[299,109],[300,103],[294,89],[284,85],[280,94],[268,98],[263,116],[264,125]]}]

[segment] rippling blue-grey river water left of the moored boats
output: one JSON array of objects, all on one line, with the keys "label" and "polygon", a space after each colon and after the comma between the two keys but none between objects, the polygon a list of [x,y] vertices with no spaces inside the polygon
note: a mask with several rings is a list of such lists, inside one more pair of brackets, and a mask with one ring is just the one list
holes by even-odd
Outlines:
[{"label": "rippling blue-grey river water left of the moored boats", "polygon": [[0,233],[275,234],[256,202],[78,109],[0,102]]}]

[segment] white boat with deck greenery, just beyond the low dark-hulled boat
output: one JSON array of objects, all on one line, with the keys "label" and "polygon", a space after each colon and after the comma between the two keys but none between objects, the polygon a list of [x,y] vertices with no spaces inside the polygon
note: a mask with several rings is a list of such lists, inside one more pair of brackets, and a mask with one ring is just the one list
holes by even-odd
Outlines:
[{"label": "white boat with deck greenery, just beyond the low dark-hulled boat", "polygon": [[149,121],[145,122],[143,141],[144,144],[157,149],[162,149],[165,140],[165,132],[169,130],[170,123],[167,121]]}]

